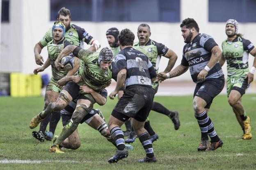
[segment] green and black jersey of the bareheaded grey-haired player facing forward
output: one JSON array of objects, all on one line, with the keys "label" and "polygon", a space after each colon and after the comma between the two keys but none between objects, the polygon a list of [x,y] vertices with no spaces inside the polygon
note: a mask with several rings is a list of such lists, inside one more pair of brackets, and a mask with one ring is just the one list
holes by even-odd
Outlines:
[{"label": "green and black jersey of the bareheaded grey-haired player facing forward", "polygon": [[158,72],[161,56],[165,56],[169,50],[165,45],[157,43],[151,39],[149,39],[149,42],[146,43],[146,45],[139,45],[139,42],[136,42],[133,44],[133,48],[146,54],[156,72]]}]

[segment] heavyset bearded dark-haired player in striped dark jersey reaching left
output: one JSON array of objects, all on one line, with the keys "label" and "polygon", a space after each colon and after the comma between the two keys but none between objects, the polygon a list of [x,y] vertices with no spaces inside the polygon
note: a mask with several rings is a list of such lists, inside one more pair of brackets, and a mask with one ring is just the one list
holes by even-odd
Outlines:
[{"label": "heavyset bearded dark-haired player in striped dark jersey reaching left", "polygon": [[[201,129],[201,141],[197,150],[216,150],[222,147],[223,142],[207,113],[213,98],[224,88],[224,75],[219,64],[222,51],[211,36],[199,33],[199,27],[193,18],[184,19],[180,26],[181,35],[186,43],[181,64],[169,73],[158,73],[158,79],[177,77],[190,68],[192,80],[197,84],[193,106],[195,118]],[[208,136],[211,139],[210,144]]]}]

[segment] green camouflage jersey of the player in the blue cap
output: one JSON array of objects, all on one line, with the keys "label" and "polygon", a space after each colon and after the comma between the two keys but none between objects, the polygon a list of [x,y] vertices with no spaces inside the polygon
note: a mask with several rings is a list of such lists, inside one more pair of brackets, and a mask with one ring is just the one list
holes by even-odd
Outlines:
[{"label": "green camouflage jersey of the player in the blue cap", "polygon": [[49,41],[47,43],[47,50],[48,50],[48,58],[50,59],[50,63],[52,66],[52,75],[54,80],[62,79],[62,77],[65,77],[68,71],[59,71],[55,67],[55,60],[57,59],[59,53],[67,46],[70,45],[69,41],[67,41],[65,38],[64,40],[58,42],[57,44],[53,43],[53,40]]}]

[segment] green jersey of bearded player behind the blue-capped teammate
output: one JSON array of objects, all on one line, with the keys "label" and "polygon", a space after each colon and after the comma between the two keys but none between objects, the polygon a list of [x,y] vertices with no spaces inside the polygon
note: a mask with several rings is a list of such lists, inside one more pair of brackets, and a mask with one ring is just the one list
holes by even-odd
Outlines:
[{"label": "green jersey of bearded player behind the blue-capped teammate", "polygon": [[[70,28],[66,30],[65,38],[67,41],[69,41],[69,43],[75,46],[80,46],[80,41],[84,41],[89,45],[91,45],[91,43],[94,41],[94,38],[90,36],[90,34],[88,34],[85,29],[74,24],[71,24]],[[40,44],[42,46],[46,46],[47,43],[52,39],[52,27],[50,27],[50,29],[43,36],[43,39],[40,40]]]}]

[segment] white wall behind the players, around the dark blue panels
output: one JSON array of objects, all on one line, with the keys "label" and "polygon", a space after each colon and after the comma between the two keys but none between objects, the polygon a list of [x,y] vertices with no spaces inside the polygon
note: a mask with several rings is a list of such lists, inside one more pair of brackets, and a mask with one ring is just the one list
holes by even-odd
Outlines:
[{"label": "white wall behind the players, around the dark blue panels", "polygon": [[[11,0],[11,20],[8,24],[1,24],[1,55],[0,72],[23,72],[32,73],[38,66],[34,61],[34,45],[39,42],[53,22],[50,22],[50,1],[49,0]],[[196,12],[194,12],[196,11]],[[72,13],[72,11],[71,11]],[[206,33],[221,45],[226,39],[225,23],[208,22],[208,0],[181,0],[181,20],[194,18],[201,33]],[[235,18],[234,18],[235,19]],[[108,46],[105,32],[110,27],[131,29],[135,34],[137,27],[142,22],[72,22],[85,28],[89,34],[98,39],[102,47]],[[165,44],[174,50],[178,55],[176,66],[182,58],[183,38],[181,37],[180,23],[149,23],[151,27],[151,39]],[[256,45],[255,32],[256,23],[240,23],[239,32],[243,33],[245,39],[249,39]],[[137,39],[136,39],[137,41]],[[47,59],[46,48],[42,50],[42,56]],[[249,57],[249,66],[252,65],[254,57]],[[167,59],[163,58],[160,63],[160,71],[167,65]],[[226,65],[224,73],[226,74]],[[46,70],[50,74],[50,69]],[[174,80],[190,80],[189,71]]]}]

